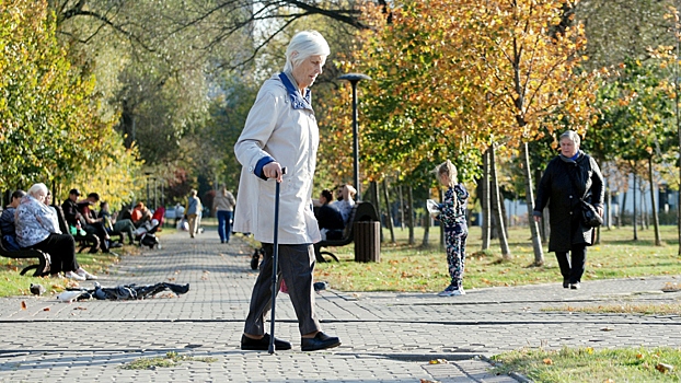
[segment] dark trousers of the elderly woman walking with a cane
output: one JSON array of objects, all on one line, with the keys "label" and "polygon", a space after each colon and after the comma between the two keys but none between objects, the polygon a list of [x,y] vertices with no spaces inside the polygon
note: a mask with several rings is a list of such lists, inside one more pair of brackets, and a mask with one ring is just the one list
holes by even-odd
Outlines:
[{"label": "dark trousers of the elderly woman walking with a cane", "polygon": [[[265,255],[261,263],[261,272],[257,276],[251,307],[244,333],[251,335],[265,334],[265,316],[272,307],[272,267],[273,244],[263,244]],[[314,289],[312,287],[312,272],[314,271],[314,247],[311,244],[279,245],[279,272],[277,278],[277,293],[281,285],[281,278],[286,280],[289,298],[298,317],[300,335],[320,330],[320,323],[314,312]]]}]

